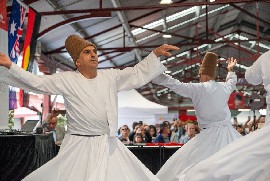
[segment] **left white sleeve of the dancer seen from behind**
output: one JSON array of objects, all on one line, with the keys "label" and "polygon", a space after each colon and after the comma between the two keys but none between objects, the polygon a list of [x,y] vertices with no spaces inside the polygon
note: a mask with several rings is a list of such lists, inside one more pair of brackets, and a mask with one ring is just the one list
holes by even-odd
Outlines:
[{"label": "left white sleeve of the dancer seen from behind", "polygon": [[196,90],[199,86],[199,83],[183,83],[165,73],[162,73],[153,79],[153,83],[163,85],[174,91],[176,94],[189,98],[194,98],[196,96]]}]

